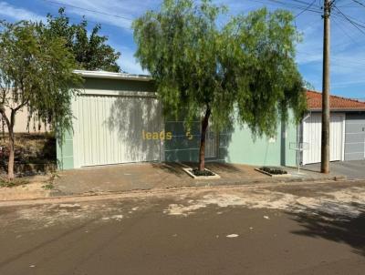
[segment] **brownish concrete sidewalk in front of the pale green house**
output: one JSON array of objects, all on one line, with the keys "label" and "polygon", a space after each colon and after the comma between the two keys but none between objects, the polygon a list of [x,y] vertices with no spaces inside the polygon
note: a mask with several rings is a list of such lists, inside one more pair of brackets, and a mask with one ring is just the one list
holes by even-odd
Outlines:
[{"label": "brownish concrete sidewalk in front of the pale green house", "polygon": [[255,167],[252,166],[207,163],[206,168],[213,170],[221,178],[196,180],[183,171],[183,166],[177,163],[142,163],[62,171],[59,172],[59,178],[55,180],[55,191],[52,192],[52,195],[69,196],[151,188],[343,179],[340,175],[322,175],[312,171],[303,171],[303,173],[297,174],[296,168],[285,168],[292,177],[271,178],[255,171]]}]

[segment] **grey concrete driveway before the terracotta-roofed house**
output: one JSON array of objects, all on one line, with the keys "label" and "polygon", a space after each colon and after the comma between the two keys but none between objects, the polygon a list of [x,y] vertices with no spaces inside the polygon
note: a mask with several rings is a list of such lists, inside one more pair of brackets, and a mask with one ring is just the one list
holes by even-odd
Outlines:
[{"label": "grey concrete driveway before the terracotta-roofed house", "polygon": [[[309,171],[320,171],[320,163],[308,164],[302,167]],[[349,179],[365,178],[365,160],[335,161],[330,163],[331,174],[343,175]]]}]

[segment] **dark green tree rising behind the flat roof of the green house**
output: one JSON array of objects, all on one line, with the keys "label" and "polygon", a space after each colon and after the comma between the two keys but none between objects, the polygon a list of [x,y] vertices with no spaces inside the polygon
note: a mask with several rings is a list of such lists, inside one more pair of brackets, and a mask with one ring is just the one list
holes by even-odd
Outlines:
[{"label": "dark green tree rising behind the flat roof of the green house", "polygon": [[63,37],[74,54],[78,68],[120,72],[117,60],[120,53],[107,45],[107,36],[99,36],[101,25],[95,25],[88,36],[88,21],[71,24],[65,9],[58,10],[58,16],[47,15],[47,28],[51,35]]}]

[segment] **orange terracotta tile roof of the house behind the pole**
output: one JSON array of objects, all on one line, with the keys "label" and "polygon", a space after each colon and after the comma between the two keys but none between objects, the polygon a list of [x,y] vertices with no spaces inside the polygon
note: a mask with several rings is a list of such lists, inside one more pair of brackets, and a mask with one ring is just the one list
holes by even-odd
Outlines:
[{"label": "orange terracotta tile roof of the house behind the pole", "polygon": [[[307,90],[307,100],[309,110],[322,108],[322,93]],[[330,96],[329,105],[335,110],[365,110],[365,102],[346,97]]]}]

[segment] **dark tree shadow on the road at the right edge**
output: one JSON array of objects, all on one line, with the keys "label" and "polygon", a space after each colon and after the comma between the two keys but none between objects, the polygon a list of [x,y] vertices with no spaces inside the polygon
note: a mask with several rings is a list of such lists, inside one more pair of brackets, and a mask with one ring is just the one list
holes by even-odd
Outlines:
[{"label": "dark tree shadow on the road at the right edge", "polygon": [[355,253],[365,256],[365,204],[351,203],[349,206],[359,209],[360,215],[339,216],[319,209],[311,210],[310,213],[296,214],[292,219],[297,221],[303,229],[294,230],[292,233],[345,243]]}]

